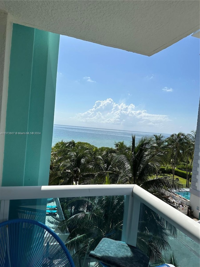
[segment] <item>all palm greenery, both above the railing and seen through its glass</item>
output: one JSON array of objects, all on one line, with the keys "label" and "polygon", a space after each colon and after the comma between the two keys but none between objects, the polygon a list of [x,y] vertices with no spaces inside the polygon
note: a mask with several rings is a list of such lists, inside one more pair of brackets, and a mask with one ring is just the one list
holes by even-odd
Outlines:
[{"label": "all palm greenery, both above the railing and seen through its glass", "polygon": [[[154,135],[136,140],[132,136],[130,146],[121,141],[116,142],[114,148],[98,148],[73,140],[60,141],[52,148],[49,184],[131,183],[150,193],[160,189],[178,190],[183,183],[180,177],[186,178],[189,186],[193,137],[178,133],[167,139],[162,135]],[[178,169],[183,164],[186,171]],[[89,251],[103,237],[121,240],[123,196],[65,198],[60,201],[66,219],[59,228],[69,233],[66,245],[79,260],[86,260]],[[142,205],[137,246],[150,257],[151,264],[165,262],[163,253],[170,251],[169,234],[175,237],[176,229]],[[175,262],[173,255],[169,257]]]}]

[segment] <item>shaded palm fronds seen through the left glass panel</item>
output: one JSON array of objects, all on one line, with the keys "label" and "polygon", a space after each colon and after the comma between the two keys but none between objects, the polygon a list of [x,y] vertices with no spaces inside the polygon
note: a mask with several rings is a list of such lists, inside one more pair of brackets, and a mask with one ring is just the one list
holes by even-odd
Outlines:
[{"label": "shaded palm fronds seen through the left glass panel", "polygon": [[70,232],[66,246],[71,254],[85,257],[103,237],[121,240],[123,196],[77,198],[71,203],[73,216],[60,225],[62,231]]}]

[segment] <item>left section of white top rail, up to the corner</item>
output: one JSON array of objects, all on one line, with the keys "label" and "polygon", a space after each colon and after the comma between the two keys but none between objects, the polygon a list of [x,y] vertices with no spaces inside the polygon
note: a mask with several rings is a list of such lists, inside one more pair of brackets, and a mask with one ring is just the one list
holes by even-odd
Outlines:
[{"label": "left section of white top rail, up to the corner", "polygon": [[0,187],[0,200],[125,196],[133,194],[133,184],[50,185]]}]

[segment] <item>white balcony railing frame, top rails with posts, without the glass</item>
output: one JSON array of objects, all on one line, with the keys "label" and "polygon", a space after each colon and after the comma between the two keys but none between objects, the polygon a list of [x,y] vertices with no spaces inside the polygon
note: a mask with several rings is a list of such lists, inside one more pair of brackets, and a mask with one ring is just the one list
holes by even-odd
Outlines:
[{"label": "white balcony railing frame, top rails with posts, without the glass", "polygon": [[8,219],[9,202],[15,199],[126,196],[122,240],[135,246],[140,204],[144,203],[192,240],[200,243],[200,224],[137,185],[65,185],[0,187],[0,222]]}]

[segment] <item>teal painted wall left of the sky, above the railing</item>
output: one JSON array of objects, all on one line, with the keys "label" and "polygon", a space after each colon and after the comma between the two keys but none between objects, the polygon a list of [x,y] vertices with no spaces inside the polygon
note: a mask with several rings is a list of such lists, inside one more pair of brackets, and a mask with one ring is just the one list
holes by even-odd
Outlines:
[{"label": "teal painted wall left of the sky, above the railing", "polygon": [[48,185],[58,49],[58,34],[13,24],[2,186]]}]

